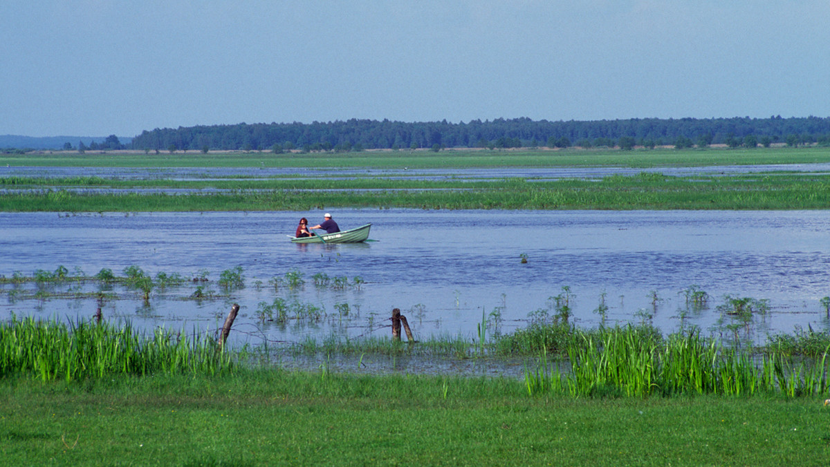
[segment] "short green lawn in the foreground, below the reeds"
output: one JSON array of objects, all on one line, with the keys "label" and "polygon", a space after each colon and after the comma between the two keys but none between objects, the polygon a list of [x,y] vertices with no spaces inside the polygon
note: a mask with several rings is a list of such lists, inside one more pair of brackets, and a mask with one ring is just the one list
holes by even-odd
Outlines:
[{"label": "short green lawn in the foreground, below the reeds", "polygon": [[6,465],[827,465],[817,398],[530,398],[520,382],[251,370],[0,380]]}]

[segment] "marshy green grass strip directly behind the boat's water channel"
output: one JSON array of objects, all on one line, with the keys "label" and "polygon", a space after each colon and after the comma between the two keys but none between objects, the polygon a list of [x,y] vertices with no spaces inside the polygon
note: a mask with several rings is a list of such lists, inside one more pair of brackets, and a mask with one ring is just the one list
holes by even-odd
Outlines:
[{"label": "marshy green grass strip directly behind the boat's water channel", "polygon": [[[365,182],[365,181],[364,181]],[[298,183],[298,182],[293,182]],[[305,183],[305,182],[304,182]],[[348,186],[349,182],[330,182]],[[377,182],[383,187],[386,181]],[[427,182],[419,182],[424,184]],[[302,184],[302,183],[300,183]],[[442,183],[447,185],[447,183]],[[830,175],[676,178],[660,174],[601,181],[509,179],[456,191],[237,190],[212,194],[95,194],[64,189],[0,195],[0,212],[308,211],[323,207],[419,209],[826,209]]]}]

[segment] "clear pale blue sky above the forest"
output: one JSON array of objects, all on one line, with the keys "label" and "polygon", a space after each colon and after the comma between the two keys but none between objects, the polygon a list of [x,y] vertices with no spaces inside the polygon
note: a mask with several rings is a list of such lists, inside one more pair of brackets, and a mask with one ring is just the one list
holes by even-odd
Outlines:
[{"label": "clear pale blue sky above the forest", "polygon": [[2,0],[0,134],[830,116],[828,0]]}]

